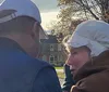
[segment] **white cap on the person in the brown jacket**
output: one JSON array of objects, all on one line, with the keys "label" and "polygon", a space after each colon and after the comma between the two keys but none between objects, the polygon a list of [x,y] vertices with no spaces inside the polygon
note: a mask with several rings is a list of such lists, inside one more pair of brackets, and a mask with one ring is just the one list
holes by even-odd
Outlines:
[{"label": "white cap on the person in the brown jacket", "polygon": [[86,45],[90,49],[92,56],[97,56],[109,49],[109,24],[102,21],[83,22],[66,43],[73,48]]}]

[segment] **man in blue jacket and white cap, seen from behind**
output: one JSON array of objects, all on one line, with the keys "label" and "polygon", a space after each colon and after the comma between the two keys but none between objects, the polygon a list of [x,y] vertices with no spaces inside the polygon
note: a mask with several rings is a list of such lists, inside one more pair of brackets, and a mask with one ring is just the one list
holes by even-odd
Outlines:
[{"label": "man in blue jacket and white cap, seen from behind", "polygon": [[0,92],[61,92],[55,68],[37,60],[46,38],[31,0],[0,4]]}]

